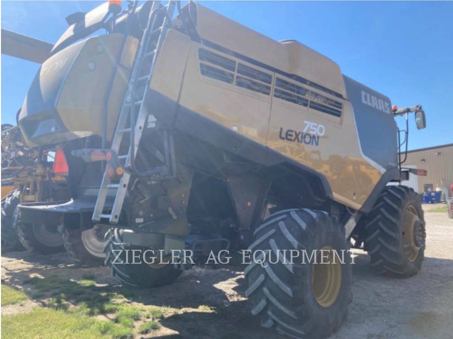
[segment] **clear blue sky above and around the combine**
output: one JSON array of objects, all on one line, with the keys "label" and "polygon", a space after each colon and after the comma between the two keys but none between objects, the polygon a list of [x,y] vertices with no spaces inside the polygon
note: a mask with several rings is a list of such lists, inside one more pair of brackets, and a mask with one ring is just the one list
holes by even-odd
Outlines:
[{"label": "clear blue sky above and around the combine", "polygon": [[[422,104],[428,127],[418,131],[410,117],[409,149],[453,142],[453,2],[202,3],[275,40],[304,43],[337,62],[343,74],[389,96],[392,104]],[[67,15],[98,4],[4,0],[1,27],[56,42],[67,28]],[[15,122],[38,68],[1,56],[2,123]],[[397,122],[405,126],[404,118]]]}]

